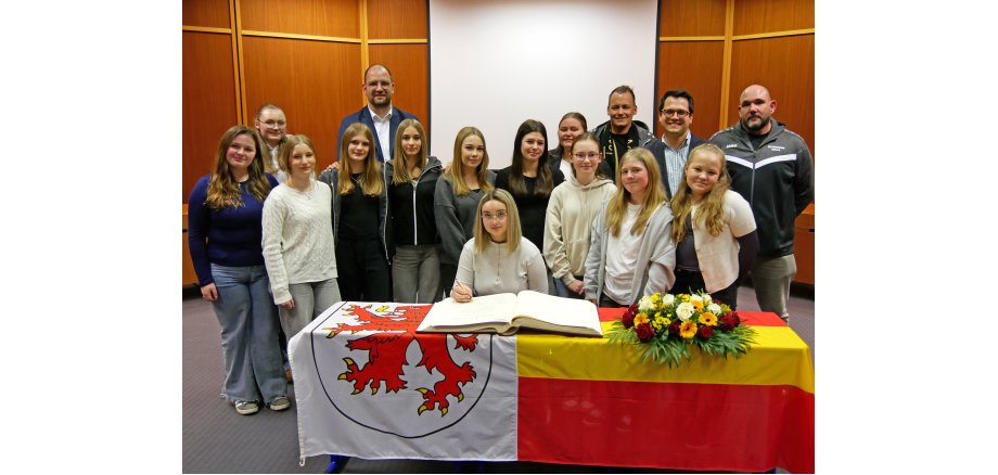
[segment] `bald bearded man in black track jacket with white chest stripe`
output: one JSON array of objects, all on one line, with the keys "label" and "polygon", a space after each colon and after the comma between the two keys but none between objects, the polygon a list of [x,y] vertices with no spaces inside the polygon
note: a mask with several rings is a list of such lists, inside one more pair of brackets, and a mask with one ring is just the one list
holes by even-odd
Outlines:
[{"label": "bald bearded man in black track jacket with white chest stripe", "polygon": [[731,189],[752,205],[759,234],[759,255],[752,285],[763,311],[790,321],[786,299],[797,273],[794,220],[815,200],[811,154],[801,136],[773,119],[777,101],[759,85],[745,88],[738,124],[714,134],[725,151]]}]

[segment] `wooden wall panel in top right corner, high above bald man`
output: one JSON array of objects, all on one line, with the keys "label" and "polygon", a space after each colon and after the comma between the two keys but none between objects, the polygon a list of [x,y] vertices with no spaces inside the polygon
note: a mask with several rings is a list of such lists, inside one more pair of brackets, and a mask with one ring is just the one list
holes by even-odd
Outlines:
[{"label": "wooden wall panel in top right corner, high above bald man", "polygon": [[734,0],[734,36],[814,27],[814,0]]}]

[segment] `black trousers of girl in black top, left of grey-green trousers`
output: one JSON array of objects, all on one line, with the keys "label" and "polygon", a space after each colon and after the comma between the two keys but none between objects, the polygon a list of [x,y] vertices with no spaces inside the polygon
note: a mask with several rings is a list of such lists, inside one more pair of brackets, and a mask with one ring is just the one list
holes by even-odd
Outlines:
[{"label": "black trousers of girl in black top, left of grey-green trousers", "polygon": [[340,239],[336,273],[344,301],[392,301],[392,270],[381,240]]}]

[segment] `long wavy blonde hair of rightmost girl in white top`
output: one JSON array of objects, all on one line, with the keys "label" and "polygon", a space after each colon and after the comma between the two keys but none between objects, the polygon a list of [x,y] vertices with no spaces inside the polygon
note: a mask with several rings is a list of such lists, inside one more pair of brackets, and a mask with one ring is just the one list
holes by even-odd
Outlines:
[{"label": "long wavy blonde hair of rightmost girl in white top", "polygon": [[720,147],[713,143],[704,143],[690,151],[690,157],[687,159],[686,166],[682,167],[679,190],[676,191],[676,196],[673,196],[670,204],[673,208],[673,229],[670,233],[673,241],[676,243],[686,235],[687,216],[690,215],[690,209],[693,208],[693,190],[690,190],[690,185],[686,182],[687,169],[690,168],[690,164],[693,163],[694,158],[703,155],[714,155],[720,161],[720,175],[717,177],[717,183],[714,184],[714,189],[700,202],[696,217],[693,219],[693,226],[704,227],[711,235],[720,235],[725,230],[725,223],[727,223],[725,193],[731,183],[731,178],[728,175],[728,162],[725,159],[725,152]]}]

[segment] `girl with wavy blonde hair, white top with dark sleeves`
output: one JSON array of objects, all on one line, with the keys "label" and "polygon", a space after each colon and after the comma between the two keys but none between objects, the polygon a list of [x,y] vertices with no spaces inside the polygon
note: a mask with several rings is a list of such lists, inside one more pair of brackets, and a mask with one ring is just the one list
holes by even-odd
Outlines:
[{"label": "girl with wavy blonde hair, white top with dark sleeves", "polygon": [[671,203],[670,238],[678,243],[674,293],[703,290],[735,308],[738,282],[759,247],[752,207],[728,189],[731,178],[717,145],[693,149],[682,175]]}]

